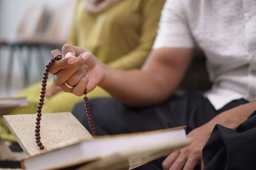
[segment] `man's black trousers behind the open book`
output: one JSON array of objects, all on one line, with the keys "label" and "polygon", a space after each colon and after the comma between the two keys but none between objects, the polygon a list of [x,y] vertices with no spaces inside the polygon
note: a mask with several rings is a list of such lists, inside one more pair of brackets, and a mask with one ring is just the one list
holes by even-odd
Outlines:
[{"label": "man's black trousers behind the open book", "polygon": [[[247,101],[244,99],[235,100],[216,111],[209,100],[197,92],[188,92],[182,96],[173,95],[160,105],[143,109],[126,107],[113,98],[89,99],[98,135],[143,132],[183,125],[187,126],[186,133],[189,133],[219,113],[245,103]],[[73,114],[90,132],[83,102],[75,106]],[[162,170],[165,158],[152,161],[136,170]],[[195,169],[200,169],[200,166]]]}]

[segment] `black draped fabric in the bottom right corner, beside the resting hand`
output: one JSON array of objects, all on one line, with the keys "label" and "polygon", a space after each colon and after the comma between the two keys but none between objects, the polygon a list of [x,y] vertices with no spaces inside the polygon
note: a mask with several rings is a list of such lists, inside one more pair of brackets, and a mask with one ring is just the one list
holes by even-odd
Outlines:
[{"label": "black draped fabric in the bottom right corner, beside the resting hand", "polygon": [[236,130],[216,125],[204,146],[205,170],[256,170],[256,111]]}]

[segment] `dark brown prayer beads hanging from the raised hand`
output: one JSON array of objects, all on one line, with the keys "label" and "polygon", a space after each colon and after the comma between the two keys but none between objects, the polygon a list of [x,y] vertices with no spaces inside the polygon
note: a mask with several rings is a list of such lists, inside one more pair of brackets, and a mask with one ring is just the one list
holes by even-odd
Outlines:
[{"label": "dark brown prayer beads hanging from the raised hand", "polygon": [[[55,56],[53,57],[46,66],[46,69],[44,71],[44,76],[43,76],[43,79],[42,79],[42,88],[41,88],[41,95],[40,95],[40,99],[39,99],[39,105],[38,105],[38,109],[36,110],[37,111],[37,118],[36,118],[36,126],[35,126],[35,139],[36,139],[36,143],[38,145],[38,147],[40,148],[40,150],[43,150],[44,149],[44,145],[42,144],[41,142],[41,136],[40,136],[40,121],[41,121],[41,116],[42,116],[42,113],[41,113],[41,109],[43,108],[43,105],[44,105],[44,97],[45,97],[45,90],[46,90],[46,86],[47,86],[47,79],[48,79],[48,75],[49,75],[49,71],[50,71],[50,68],[51,66],[58,60],[62,59],[62,56],[61,55],[58,55],[58,56]],[[92,134],[93,136],[96,136],[96,128],[94,127],[93,125],[93,118],[90,114],[90,107],[89,107],[89,101],[88,101],[88,97],[86,96],[87,94],[87,88],[85,88],[85,91],[84,91],[84,105],[85,105],[85,110],[86,110],[86,113],[87,113],[87,118],[88,118],[88,122],[89,122],[89,125],[90,125],[90,128],[91,128],[91,131],[92,131]]]}]

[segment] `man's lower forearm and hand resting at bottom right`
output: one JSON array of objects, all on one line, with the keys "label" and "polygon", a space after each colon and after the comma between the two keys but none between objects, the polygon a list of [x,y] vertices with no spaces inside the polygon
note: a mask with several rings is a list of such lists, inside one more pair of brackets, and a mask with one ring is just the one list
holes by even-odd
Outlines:
[{"label": "man's lower forearm and hand resting at bottom right", "polygon": [[191,137],[193,142],[189,144],[189,146],[170,154],[166,160],[163,161],[163,169],[194,170],[196,164],[201,164],[201,169],[204,169],[202,151],[215,125],[219,124],[235,130],[236,127],[244,122],[255,110],[256,101],[239,105],[218,114],[206,124],[192,130],[187,136]]}]

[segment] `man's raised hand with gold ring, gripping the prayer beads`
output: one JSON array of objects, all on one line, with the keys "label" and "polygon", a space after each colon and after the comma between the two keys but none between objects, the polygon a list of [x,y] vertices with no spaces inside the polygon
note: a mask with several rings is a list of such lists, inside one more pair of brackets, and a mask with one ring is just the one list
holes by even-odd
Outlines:
[{"label": "man's raised hand with gold ring, gripping the prayer beads", "polygon": [[[54,85],[76,96],[82,96],[85,88],[92,91],[104,77],[100,61],[90,51],[73,45],[64,45],[62,52],[63,59],[55,62],[49,71]],[[68,88],[65,82],[74,88]]]}]

